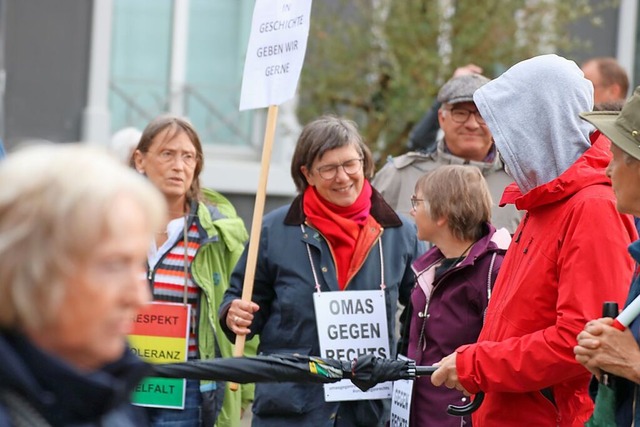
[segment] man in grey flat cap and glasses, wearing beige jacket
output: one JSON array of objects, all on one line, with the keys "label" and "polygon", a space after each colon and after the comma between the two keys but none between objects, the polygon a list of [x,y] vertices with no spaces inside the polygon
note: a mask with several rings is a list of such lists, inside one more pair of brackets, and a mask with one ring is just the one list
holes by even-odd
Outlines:
[{"label": "man in grey flat cap and glasses, wearing beige jacket", "polygon": [[478,167],[487,180],[494,200],[491,222],[496,228],[513,233],[522,213],[513,205],[498,207],[504,188],[513,182],[504,171],[491,138],[491,132],[473,102],[474,92],[489,81],[480,74],[451,78],[438,92],[442,103],[438,121],[443,138],[431,153],[413,151],[389,159],[373,178],[373,186],[396,211],[410,217],[415,183],[420,176],[441,165],[462,164]]}]

